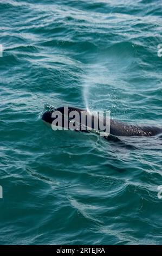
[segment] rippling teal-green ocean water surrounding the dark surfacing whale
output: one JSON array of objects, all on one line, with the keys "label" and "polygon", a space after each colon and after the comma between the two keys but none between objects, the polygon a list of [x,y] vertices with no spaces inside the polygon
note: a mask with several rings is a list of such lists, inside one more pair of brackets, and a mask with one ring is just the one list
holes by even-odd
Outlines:
[{"label": "rippling teal-green ocean water surrounding the dark surfacing whale", "polygon": [[43,111],[162,126],[162,2],[1,0],[1,245],[162,241],[162,140],[53,131]]}]

